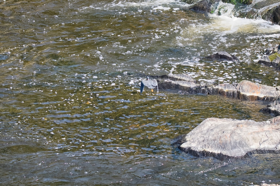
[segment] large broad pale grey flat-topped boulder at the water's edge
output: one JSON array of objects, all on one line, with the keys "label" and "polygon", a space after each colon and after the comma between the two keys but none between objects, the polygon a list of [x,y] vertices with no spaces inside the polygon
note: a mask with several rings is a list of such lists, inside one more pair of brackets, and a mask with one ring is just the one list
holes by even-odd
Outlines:
[{"label": "large broad pale grey flat-topped boulder at the water's edge", "polygon": [[179,140],[184,142],[179,146],[182,151],[220,160],[246,158],[254,153],[279,153],[280,123],[207,118]]}]

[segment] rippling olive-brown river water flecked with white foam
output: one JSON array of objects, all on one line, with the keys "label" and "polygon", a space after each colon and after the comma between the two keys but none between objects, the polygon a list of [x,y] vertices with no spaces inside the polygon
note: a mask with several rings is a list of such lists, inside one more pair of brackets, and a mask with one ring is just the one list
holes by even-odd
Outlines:
[{"label": "rippling olive-brown river water flecked with white foam", "polygon": [[[171,145],[208,117],[272,118],[259,112],[267,102],[137,92],[143,74],[280,85],[278,70],[256,63],[279,44],[279,25],[187,7],[175,0],[0,1],[0,184],[279,183],[279,155],[220,161]],[[204,58],[216,51],[240,61]]]}]

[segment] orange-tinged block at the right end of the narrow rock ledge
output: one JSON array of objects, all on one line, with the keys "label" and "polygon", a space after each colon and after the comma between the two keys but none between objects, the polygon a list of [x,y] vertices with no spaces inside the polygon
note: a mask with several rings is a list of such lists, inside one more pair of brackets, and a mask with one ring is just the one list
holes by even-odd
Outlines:
[{"label": "orange-tinged block at the right end of the narrow rock ledge", "polygon": [[260,85],[251,81],[243,80],[237,83],[238,98],[243,100],[266,100],[273,101],[280,96],[280,87]]}]

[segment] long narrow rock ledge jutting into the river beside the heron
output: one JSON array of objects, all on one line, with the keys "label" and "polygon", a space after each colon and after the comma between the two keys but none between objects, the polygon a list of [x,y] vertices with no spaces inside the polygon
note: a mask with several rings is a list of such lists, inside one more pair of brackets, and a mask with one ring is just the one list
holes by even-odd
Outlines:
[{"label": "long narrow rock ledge jutting into the river beside the heron", "polygon": [[196,83],[187,74],[150,77],[157,78],[159,90],[176,90],[190,94],[222,95],[250,101],[274,101],[280,96],[280,86],[272,87],[247,80],[240,83],[214,85],[212,83]]}]

